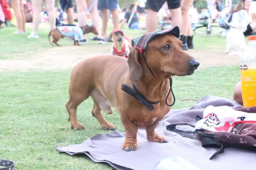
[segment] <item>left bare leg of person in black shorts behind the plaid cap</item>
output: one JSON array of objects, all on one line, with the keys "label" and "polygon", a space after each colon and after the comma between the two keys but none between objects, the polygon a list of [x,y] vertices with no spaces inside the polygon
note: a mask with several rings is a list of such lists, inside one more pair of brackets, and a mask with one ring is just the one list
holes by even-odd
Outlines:
[{"label": "left bare leg of person in black shorts behind the plaid cap", "polygon": [[157,30],[157,12],[152,9],[146,9],[146,33],[153,32]]}]

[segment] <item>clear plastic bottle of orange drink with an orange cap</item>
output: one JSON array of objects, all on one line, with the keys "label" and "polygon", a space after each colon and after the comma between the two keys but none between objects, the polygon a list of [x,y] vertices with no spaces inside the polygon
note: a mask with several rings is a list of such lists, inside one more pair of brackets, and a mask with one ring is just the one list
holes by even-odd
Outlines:
[{"label": "clear plastic bottle of orange drink with an orange cap", "polygon": [[256,106],[256,35],[248,36],[248,48],[240,57],[243,106]]}]

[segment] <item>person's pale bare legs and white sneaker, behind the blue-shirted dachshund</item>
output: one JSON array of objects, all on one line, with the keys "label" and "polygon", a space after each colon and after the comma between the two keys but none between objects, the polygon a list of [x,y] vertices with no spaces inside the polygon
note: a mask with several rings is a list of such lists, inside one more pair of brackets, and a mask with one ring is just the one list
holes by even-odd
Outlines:
[{"label": "person's pale bare legs and white sneaker, behind the blue-shirted dachshund", "polygon": [[43,6],[43,1],[45,3],[45,8],[48,13],[48,22],[50,24],[50,29],[55,28],[56,25],[56,14],[55,14],[55,0],[31,0],[33,6],[33,31],[28,35],[28,38],[39,38],[38,28],[41,22],[41,11]]}]

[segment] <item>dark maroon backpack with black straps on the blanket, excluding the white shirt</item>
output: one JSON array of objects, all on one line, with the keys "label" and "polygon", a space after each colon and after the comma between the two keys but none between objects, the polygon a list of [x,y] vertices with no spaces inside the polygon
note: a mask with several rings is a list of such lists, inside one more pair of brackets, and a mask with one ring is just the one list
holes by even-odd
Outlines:
[{"label": "dark maroon backpack with black straps on the blanket, excluding the white shirt", "polygon": [[[255,112],[254,112],[255,113]],[[201,120],[200,116],[196,116],[196,121]],[[177,125],[195,125],[189,123],[175,123],[166,126],[166,129],[175,132],[183,137],[201,140],[203,147],[218,147],[210,159],[217,154],[224,152],[226,147],[237,147],[256,151],[256,123],[240,123],[237,124],[233,132],[210,132],[205,129],[197,129],[195,132],[183,131],[176,128]]]}]

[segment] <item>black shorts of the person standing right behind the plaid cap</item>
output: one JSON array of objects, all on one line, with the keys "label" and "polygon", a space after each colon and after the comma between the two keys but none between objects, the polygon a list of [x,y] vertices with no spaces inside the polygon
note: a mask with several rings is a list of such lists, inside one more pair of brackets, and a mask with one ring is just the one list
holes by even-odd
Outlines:
[{"label": "black shorts of the person standing right behind the plaid cap", "polygon": [[[147,0],[146,8],[158,12],[166,0]],[[167,0],[168,9],[176,9],[180,7],[180,0]]]}]

